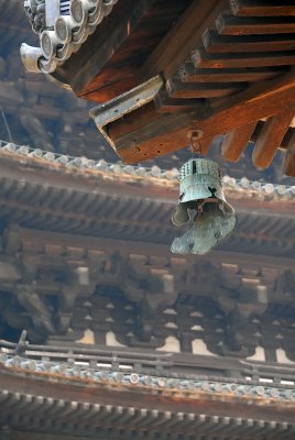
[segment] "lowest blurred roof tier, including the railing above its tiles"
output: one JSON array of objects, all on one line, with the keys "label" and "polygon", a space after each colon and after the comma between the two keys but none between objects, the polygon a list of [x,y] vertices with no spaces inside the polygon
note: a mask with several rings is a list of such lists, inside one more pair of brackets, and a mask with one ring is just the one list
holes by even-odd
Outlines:
[{"label": "lowest blurred roof tier, including the railing above its tiles", "polygon": [[[194,373],[157,370],[161,363],[173,365],[175,355],[133,352],[132,358],[123,351],[13,350],[1,341],[0,420],[9,425],[3,432],[11,431],[13,439],[53,432],[58,439],[294,437],[294,381],[285,384],[287,365],[280,365],[278,375],[271,364],[240,362],[239,367],[234,360],[217,359],[216,371],[227,364],[226,375],[218,377],[199,372],[201,356],[195,356]],[[117,367],[107,364],[113,361]]]}]

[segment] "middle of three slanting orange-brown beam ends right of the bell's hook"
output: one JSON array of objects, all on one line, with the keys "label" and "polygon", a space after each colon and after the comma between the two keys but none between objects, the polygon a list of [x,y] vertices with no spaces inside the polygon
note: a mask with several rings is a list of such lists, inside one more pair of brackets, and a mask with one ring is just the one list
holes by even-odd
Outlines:
[{"label": "middle of three slanting orange-brown beam ends right of the bell's hook", "polygon": [[277,147],[293,120],[295,106],[280,114],[270,118],[256,141],[253,151],[253,164],[259,168],[267,168],[272,163]]}]

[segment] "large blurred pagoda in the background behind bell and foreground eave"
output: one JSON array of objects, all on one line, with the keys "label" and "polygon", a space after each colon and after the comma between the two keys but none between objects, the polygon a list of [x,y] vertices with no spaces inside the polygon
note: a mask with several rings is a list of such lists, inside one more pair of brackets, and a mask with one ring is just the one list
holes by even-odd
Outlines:
[{"label": "large blurred pagoda in the background behind bell and foreground eave", "polygon": [[[113,42],[122,41],[122,1],[61,1],[61,16],[75,6],[78,13],[79,4],[99,3],[105,11],[92,34],[87,22],[81,51],[113,19]],[[153,7],[145,18],[143,3]],[[138,62],[193,3],[198,2],[139,1],[125,11],[130,30],[140,32],[135,19],[142,37],[154,30]],[[220,3],[227,25],[234,26],[238,19]],[[239,0],[231,8],[258,14],[262,3]],[[266,3],[270,14],[275,2]],[[277,18],[263,18],[263,29],[271,22],[292,34],[295,6],[283,3],[289,16],[282,6]],[[243,138],[249,145],[238,162],[221,157],[225,139],[215,138],[208,157],[220,164],[238,227],[207,255],[173,254],[177,231],[171,215],[189,150],[123,163],[101,135],[105,125],[99,133],[89,119],[91,105],[61,86],[63,66],[53,66],[48,56],[51,74],[22,67],[20,44],[40,42],[21,2],[0,6],[0,440],[293,440],[295,184],[281,166],[292,152],[292,123],[265,169],[254,168],[249,143],[270,127],[265,118],[258,117],[254,135]],[[44,23],[45,10],[39,11],[32,20],[36,32]],[[52,37],[55,31],[44,32]],[[120,55],[135,40],[124,40],[130,46],[106,68],[114,63],[119,75]],[[289,35],[276,40],[291,45]],[[269,41],[277,51],[275,38]],[[293,50],[284,47],[289,62]],[[65,63],[77,59],[79,52],[70,51]],[[190,62],[185,67],[192,70]],[[284,69],[264,67],[264,74]],[[129,85],[117,78],[118,97],[138,87],[128,72],[121,74]],[[144,106],[133,110],[144,113]]]}]

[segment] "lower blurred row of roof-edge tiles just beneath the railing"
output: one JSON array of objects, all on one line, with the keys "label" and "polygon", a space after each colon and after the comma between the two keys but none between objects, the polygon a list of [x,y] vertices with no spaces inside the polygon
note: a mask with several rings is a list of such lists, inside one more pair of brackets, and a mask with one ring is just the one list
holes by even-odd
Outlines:
[{"label": "lower blurred row of roof-edge tiles just beneath the railing", "polygon": [[[272,403],[281,404],[284,400],[295,400],[295,392],[282,383],[264,384],[252,380],[237,380],[230,377],[207,377],[201,375],[178,374],[177,377],[161,375],[156,372],[136,373],[133,370],[122,371],[118,369],[101,369],[79,365],[75,363],[48,362],[43,360],[30,360],[18,355],[8,355],[0,352],[0,371],[4,369],[11,373],[26,378],[43,378],[45,381],[57,380],[63,383],[72,383],[79,386],[84,382],[89,386],[110,385],[134,389],[140,388],[141,393],[164,392],[171,388],[171,394],[186,395],[188,398],[198,398],[199,394],[207,395],[210,399],[214,396],[229,400],[253,399],[254,404],[263,403],[267,398]],[[240,386],[239,386],[240,385]],[[250,385],[250,386],[249,386]]]}]

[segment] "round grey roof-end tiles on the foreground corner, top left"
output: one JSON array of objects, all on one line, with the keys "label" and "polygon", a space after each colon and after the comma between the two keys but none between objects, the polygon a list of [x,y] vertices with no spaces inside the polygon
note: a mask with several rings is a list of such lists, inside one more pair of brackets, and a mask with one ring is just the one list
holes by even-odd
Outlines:
[{"label": "round grey roof-end tiles on the foreground corner, top left", "polygon": [[40,46],[21,45],[21,57],[29,72],[54,73],[109,15],[118,0],[24,0]]}]

